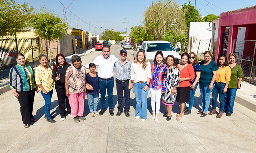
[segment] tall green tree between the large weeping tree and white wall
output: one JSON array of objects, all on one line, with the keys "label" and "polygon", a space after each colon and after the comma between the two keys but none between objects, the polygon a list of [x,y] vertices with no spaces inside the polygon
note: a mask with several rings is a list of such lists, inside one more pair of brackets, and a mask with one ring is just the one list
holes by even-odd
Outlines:
[{"label": "tall green tree between the large weeping tree and white wall", "polygon": [[[188,4],[184,3],[181,10],[185,12],[185,21],[187,24],[187,30],[189,29],[189,23],[195,21],[195,6],[191,4],[191,0],[188,0]],[[203,22],[202,14],[196,9],[196,22]]]}]

